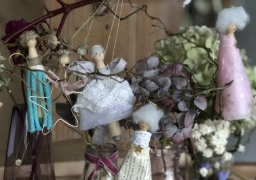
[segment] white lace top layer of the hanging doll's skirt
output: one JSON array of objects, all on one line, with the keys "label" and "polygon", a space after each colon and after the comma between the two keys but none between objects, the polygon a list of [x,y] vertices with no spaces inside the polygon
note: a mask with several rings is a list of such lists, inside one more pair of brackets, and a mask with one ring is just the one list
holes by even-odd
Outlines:
[{"label": "white lace top layer of the hanging doll's skirt", "polygon": [[131,104],[132,89],[129,83],[119,77],[93,79],[78,95],[74,111],[87,108],[94,113],[101,113],[104,107],[119,108]]}]

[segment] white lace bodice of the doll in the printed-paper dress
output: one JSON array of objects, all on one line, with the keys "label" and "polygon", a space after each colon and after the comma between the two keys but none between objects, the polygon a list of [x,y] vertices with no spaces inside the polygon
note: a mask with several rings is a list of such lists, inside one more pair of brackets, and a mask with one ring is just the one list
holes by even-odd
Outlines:
[{"label": "white lace bodice of the doll in the printed-paper dress", "polygon": [[135,146],[141,146],[143,148],[149,147],[149,142],[151,138],[151,133],[146,131],[135,131],[134,139],[132,144]]}]

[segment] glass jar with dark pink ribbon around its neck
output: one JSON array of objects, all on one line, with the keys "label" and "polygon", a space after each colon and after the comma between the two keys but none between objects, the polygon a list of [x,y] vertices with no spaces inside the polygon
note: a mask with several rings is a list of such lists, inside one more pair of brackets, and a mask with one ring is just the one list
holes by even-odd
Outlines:
[{"label": "glass jar with dark pink ribbon around its neck", "polygon": [[[95,161],[87,158],[88,156],[92,157]],[[106,145],[100,149],[99,147],[87,145],[86,164],[84,165],[80,180],[113,180],[115,178],[115,174],[111,173],[113,169],[110,170],[109,167],[105,165],[110,162],[103,164],[101,161],[102,158],[109,159],[111,164],[117,167],[118,151],[116,146],[111,143],[106,143]],[[92,176],[93,173],[94,176]]]}]

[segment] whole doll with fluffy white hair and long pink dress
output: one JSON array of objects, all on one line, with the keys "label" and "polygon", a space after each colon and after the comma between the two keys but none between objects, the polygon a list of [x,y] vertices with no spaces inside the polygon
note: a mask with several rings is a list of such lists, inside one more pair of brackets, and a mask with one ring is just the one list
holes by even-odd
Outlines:
[{"label": "whole doll with fluffy white hair and long pink dress", "polygon": [[217,91],[215,110],[224,120],[244,119],[253,110],[253,95],[250,83],[242,64],[235,31],[244,29],[249,21],[249,15],[243,7],[231,7],[218,13],[216,28],[221,32],[219,44],[218,86],[233,83],[223,91]]}]

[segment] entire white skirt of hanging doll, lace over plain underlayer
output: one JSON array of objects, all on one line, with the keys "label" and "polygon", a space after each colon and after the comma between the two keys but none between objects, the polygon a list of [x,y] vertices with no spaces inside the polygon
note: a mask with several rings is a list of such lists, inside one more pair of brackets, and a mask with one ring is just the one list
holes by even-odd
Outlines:
[{"label": "entire white skirt of hanging doll, lace over plain underlayer", "polygon": [[122,78],[93,79],[78,95],[74,106],[74,111],[80,113],[80,129],[128,118],[132,114],[133,97],[129,83]]}]

